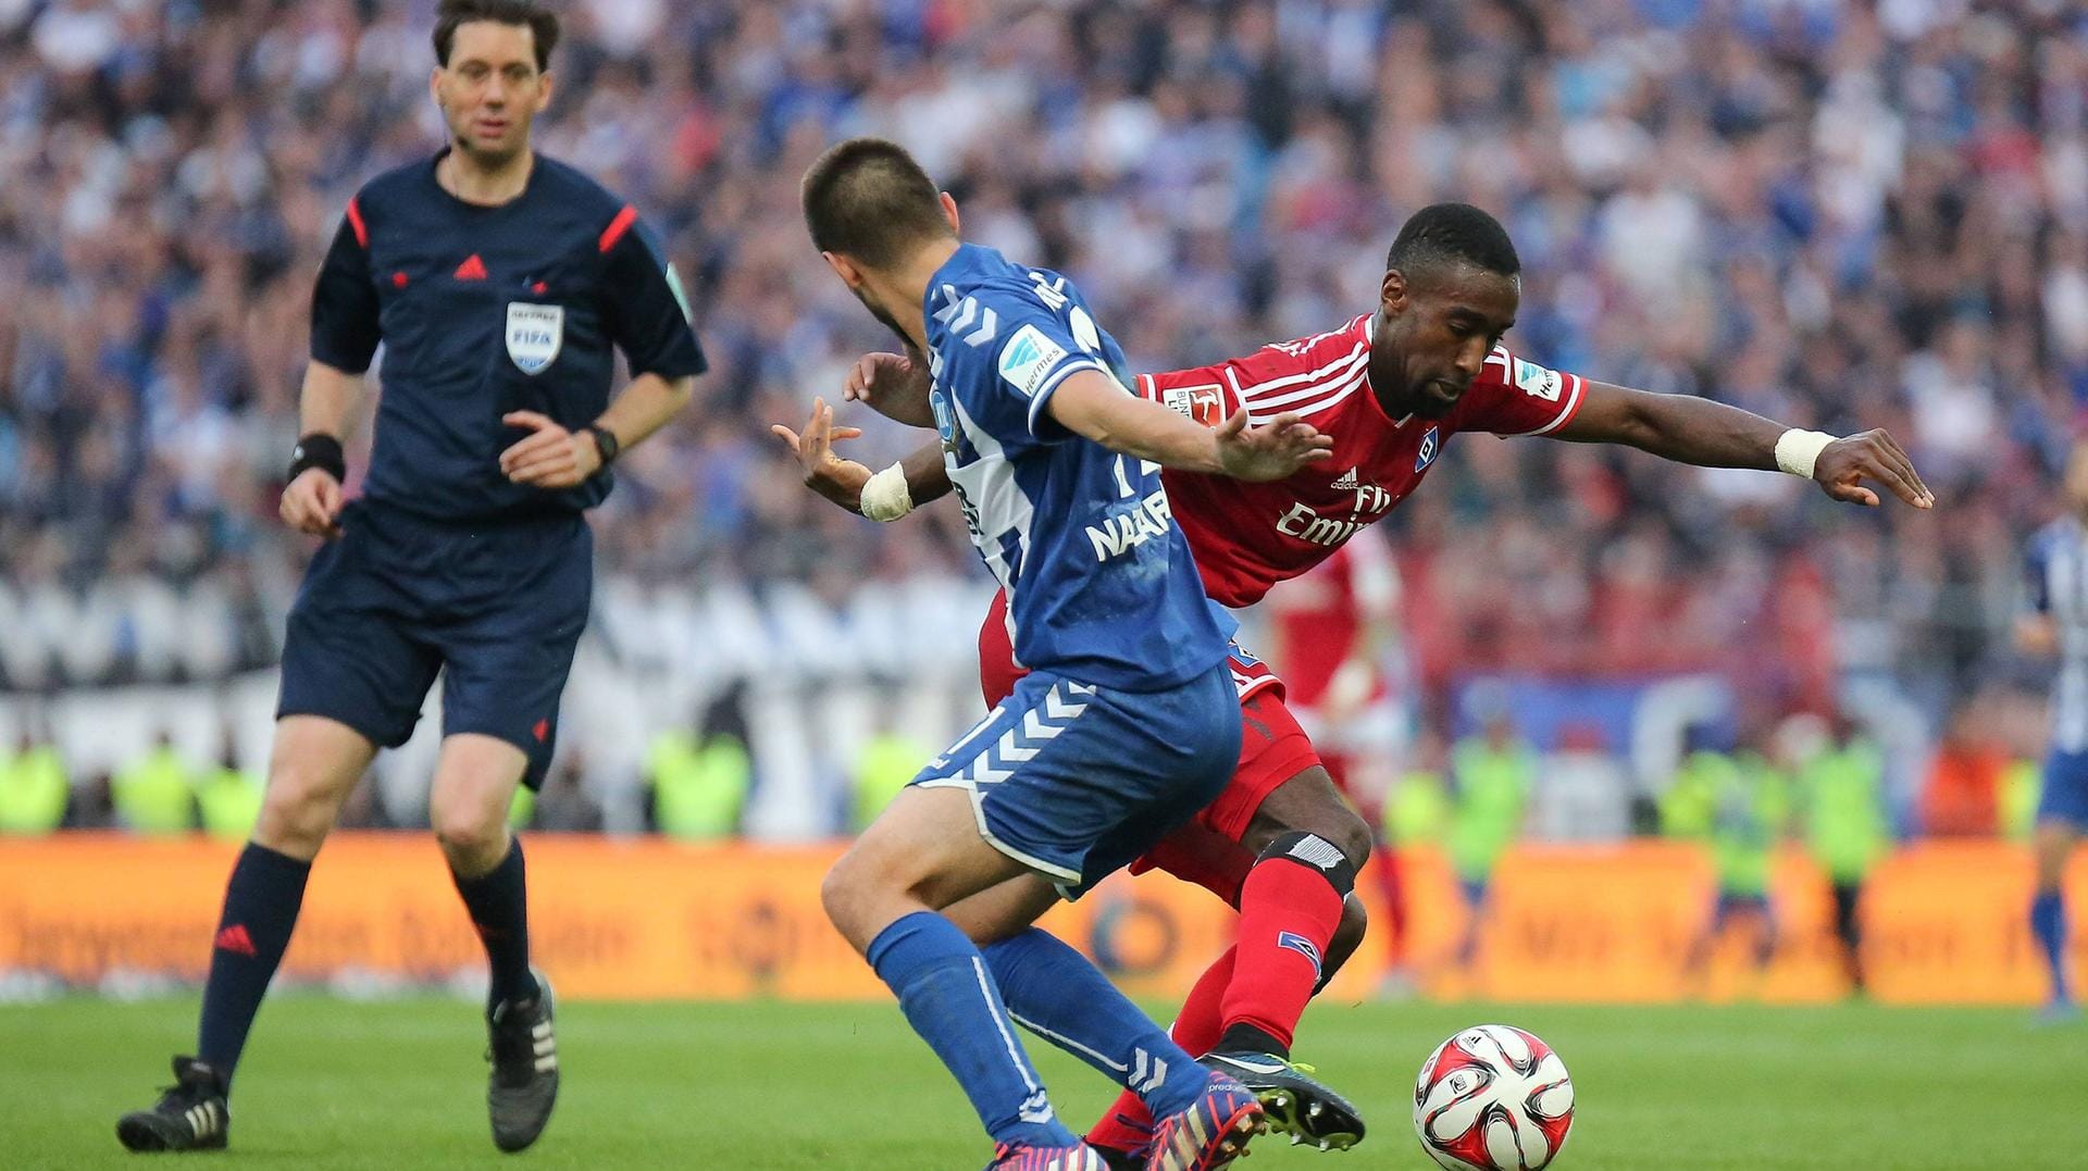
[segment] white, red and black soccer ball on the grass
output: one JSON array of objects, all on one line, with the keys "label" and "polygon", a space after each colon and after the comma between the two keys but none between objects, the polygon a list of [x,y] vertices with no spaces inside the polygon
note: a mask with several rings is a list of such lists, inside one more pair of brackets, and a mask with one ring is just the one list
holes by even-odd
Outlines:
[{"label": "white, red and black soccer ball on the grass", "polygon": [[1572,1129],[1572,1081],[1551,1046],[1476,1025],[1437,1046],[1414,1083],[1414,1133],[1449,1171],[1537,1171]]}]

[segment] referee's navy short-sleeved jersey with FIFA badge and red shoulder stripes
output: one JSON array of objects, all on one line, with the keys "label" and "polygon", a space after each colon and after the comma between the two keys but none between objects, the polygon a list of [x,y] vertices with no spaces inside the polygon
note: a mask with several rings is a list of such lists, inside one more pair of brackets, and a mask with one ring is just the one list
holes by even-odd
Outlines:
[{"label": "referee's navy short-sleeved jersey with FIFA badge and red shoulder stripes", "polygon": [[311,357],[359,374],[384,342],[363,493],[438,520],[585,509],[610,474],[545,491],[501,476],[528,436],[507,411],[585,428],[631,374],[704,372],[681,282],[637,211],[537,157],[524,192],[478,207],[445,192],[441,159],[386,171],[349,200],[311,296]]}]

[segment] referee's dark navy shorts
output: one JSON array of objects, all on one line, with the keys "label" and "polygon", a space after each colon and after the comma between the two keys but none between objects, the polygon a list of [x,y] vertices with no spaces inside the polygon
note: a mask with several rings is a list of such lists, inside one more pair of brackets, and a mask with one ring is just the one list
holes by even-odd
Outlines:
[{"label": "referee's dark navy shorts", "polygon": [[524,783],[541,785],[593,593],[587,520],[457,524],[353,501],[340,528],[290,607],[276,716],[399,747],[441,670],[443,735],[520,747]]}]

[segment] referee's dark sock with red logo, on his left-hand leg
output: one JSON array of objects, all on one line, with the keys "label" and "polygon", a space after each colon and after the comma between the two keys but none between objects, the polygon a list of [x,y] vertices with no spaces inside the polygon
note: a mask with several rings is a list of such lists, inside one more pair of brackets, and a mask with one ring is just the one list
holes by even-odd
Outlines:
[{"label": "referee's dark sock with red logo, on his left-hand leg", "polygon": [[211,1067],[228,1088],[240,1050],[246,1048],[246,1031],[267,996],[267,981],[290,948],[309,877],[311,862],[253,841],[232,866],[226,910],[211,943],[211,979],[203,985],[203,1023],[196,1029],[196,1060]]}]

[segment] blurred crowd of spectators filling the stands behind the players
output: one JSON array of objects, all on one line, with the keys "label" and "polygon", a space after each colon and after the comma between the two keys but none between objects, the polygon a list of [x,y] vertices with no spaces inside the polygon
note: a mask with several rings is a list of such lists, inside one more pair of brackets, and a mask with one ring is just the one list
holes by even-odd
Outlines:
[{"label": "blurred crowd of spectators filling the stands behind the players", "polygon": [[[430,10],[0,0],[17,699],[271,662],[309,555],[274,501],[311,273],[349,194],[441,140]],[[1464,438],[1391,522],[1428,720],[1474,670],[1710,670],[1756,722],[1875,680],[1950,743],[2036,703],[2007,645],[2017,561],[2059,509],[2088,403],[2088,17],[2069,4],[576,0],[566,17],[543,148],[660,228],[712,359],[597,513],[595,653],[687,676],[691,708],[731,678],[948,674],[969,655],[956,511],[850,518],[766,434],[887,344],[798,217],[798,175],[846,134],[902,140],[969,236],[1071,273],[1138,369],[1345,324],[1374,305],[1401,217],[1460,198],[1520,248],[1520,353],[1798,426],[1892,428],[1938,493],[1933,516],[1867,513],[1779,476]],[[867,428],[873,465],[912,445]],[[825,639],[873,626],[923,639]]]}]

